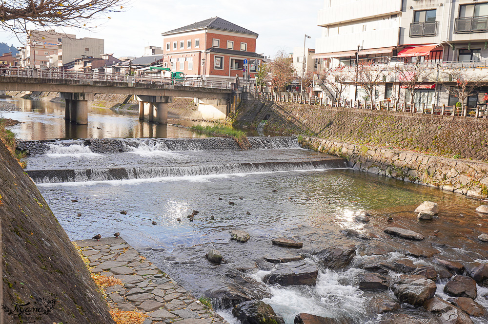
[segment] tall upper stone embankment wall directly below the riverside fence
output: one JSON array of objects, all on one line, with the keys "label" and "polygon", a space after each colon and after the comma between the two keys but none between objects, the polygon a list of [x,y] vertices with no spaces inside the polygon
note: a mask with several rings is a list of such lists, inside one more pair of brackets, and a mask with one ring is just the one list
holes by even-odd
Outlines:
[{"label": "tall upper stone embankment wall directly below the riverside fence", "polygon": [[488,161],[488,119],[485,118],[244,100],[234,117],[234,125]]}]

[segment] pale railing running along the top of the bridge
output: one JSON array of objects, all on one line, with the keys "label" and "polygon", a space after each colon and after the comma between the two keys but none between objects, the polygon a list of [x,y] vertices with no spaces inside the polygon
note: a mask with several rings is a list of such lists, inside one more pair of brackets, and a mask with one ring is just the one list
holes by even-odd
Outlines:
[{"label": "pale railing running along the top of the bridge", "polygon": [[142,84],[170,84],[187,87],[231,89],[230,82],[225,81],[206,81],[195,79],[179,79],[157,76],[124,76],[117,73],[93,73],[58,69],[30,69],[19,67],[1,67],[0,76],[16,77],[39,77],[57,80],[93,80],[93,81],[115,81]]}]

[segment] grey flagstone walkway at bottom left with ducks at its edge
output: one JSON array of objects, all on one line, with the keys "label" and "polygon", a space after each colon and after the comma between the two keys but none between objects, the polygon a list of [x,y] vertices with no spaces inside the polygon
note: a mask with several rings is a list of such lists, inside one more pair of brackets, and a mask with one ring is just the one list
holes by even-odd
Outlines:
[{"label": "grey flagstone walkway at bottom left with ducks at its edge", "polygon": [[122,238],[75,241],[92,272],[119,278],[123,286],[106,289],[107,301],[120,310],[141,310],[144,324],[228,324],[182,286],[146,261]]}]

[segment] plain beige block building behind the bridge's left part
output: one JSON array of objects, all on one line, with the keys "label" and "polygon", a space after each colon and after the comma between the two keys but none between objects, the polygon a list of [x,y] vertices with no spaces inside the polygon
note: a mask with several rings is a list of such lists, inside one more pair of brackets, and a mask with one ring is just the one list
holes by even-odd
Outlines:
[{"label": "plain beige block building behind the bridge's left part", "polygon": [[[59,67],[74,61],[77,57],[102,57],[104,40],[100,38],[59,37],[57,39]],[[55,63],[54,61],[52,63]]]}]

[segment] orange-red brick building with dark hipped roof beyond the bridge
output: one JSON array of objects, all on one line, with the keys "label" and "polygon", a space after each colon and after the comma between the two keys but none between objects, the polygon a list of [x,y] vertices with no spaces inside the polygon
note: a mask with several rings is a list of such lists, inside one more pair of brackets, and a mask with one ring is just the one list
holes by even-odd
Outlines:
[{"label": "orange-red brick building with dark hipped roof beyond the bridge", "polygon": [[232,81],[243,78],[244,59],[255,80],[261,55],[256,54],[258,34],[219,17],[195,22],[162,34],[163,64],[171,71],[205,80]]}]

